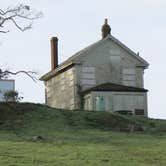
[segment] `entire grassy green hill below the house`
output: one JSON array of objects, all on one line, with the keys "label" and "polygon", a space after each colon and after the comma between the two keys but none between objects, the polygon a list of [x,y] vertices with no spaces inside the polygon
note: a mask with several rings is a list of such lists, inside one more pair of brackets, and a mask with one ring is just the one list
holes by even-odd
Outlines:
[{"label": "entire grassy green hill below the house", "polygon": [[165,166],[165,132],[164,120],[0,103],[0,165]]}]

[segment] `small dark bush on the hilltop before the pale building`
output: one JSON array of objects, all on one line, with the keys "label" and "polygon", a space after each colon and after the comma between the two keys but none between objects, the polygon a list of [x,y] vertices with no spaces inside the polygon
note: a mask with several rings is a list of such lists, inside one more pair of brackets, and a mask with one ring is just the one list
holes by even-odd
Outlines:
[{"label": "small dark bush on the hilltop before the pale building", "polygon": [[23,97],[19,96],[18,91],[9,90],[4,93],[4,99],[6,102],[19,102],[23,99]]}]

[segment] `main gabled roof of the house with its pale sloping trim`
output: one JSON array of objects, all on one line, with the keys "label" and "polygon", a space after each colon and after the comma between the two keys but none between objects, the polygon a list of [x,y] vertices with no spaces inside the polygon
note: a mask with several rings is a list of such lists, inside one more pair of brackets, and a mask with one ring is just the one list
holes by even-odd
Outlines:
[{"label": "main gabled roof of the house with its pale sloping trim", "polygon": [[145,61],[143,58],[141,58],[139,55],[137,55],[135,52],[133,52],[131,49],[129,49],[127,46],[125,46],[122,42],[120,42],[118,39],[116,39],[115,37],[113,37],[112,35],[108,35],[107,37],[105,37],[104,39],[101,39],[91,45],[89,45],[88,47],[85,47],[84,49],[80,50],[79,52],[75,53],[73,56],[71,56],[70,58],[68,58],[67,60],[65,60],[63,63],[61,63],[56,69],[46,73],[45,75],[43,75],[40,80],[44,80],[47,81],[50,78],[52,78],[53,76],[57,75],[59,73],[59,71],[66,69],[66,67],[75,64],[78,64],[78,59],[80,56],[84,56],[86,55],[86,53],[88,51],[90,51],[91,49],[96,48],[98,45],[100,45],[101,43],[103,43],[106,40],[111,40],[114,43],[116,43],[117,45],[119,45],[121,48],[125,49],[128,53],[130,53],[131,55],[133,55],[136,59],[138,59],[140,62],[143,63],[143,66],[145,68],[147,68],[149,66],[148,62]]}]

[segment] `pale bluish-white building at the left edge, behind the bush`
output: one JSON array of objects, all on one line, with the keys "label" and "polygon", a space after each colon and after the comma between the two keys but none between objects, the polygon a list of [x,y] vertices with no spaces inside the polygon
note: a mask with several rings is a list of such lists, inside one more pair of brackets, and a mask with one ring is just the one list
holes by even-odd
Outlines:
[{"label": "pale bluish-white building at the left edge, behind the bush", "polygon": [[15,89],[14,80],[2,80],[0,79],[0,102],[4,101],[4,94],[7,91]]}]

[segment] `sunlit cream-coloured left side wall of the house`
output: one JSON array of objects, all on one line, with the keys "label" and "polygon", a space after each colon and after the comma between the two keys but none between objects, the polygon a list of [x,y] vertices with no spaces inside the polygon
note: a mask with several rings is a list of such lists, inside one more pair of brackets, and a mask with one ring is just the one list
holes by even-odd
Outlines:
[{"label": "sunlit cream-coloured left side wall of the house", "polygon": [[46,104],[60,109],[75,109],[74,67],[45,82]]}]

